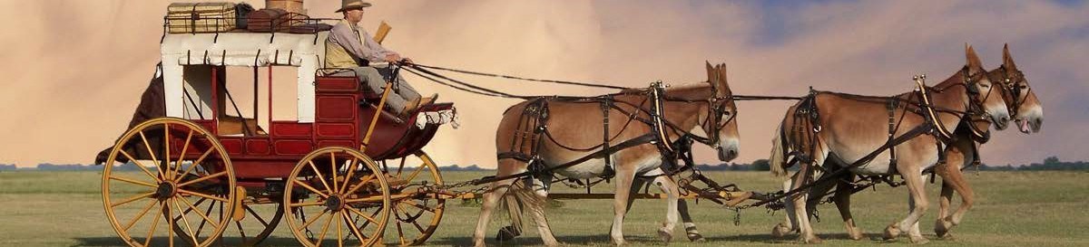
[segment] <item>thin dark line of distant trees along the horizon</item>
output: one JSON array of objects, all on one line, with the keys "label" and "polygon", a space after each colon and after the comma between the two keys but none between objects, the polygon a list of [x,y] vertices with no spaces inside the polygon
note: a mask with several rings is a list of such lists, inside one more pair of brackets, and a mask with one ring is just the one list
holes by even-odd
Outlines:
[{"label": "thin dark line of distant trees along the horizon", "polygon": [[[696,168],[701,171],[768,171],[771,169],[768,159],[757,159],[751,164],[717,164],[708,165],[700,164],[696,165]],[[792,168],[797,168],[794,166]],[[968,168],[975,169],[975,168]],[[99,171],[102,170],[102,166],[99,165],[79,165],[79,164],[38,164],[35,168],[16,168],[15,165],[4,165],[0,164],[0,171],[13,171],[13,170],[40,170],[40,171]],[[113,170],[117,171],[138,171],[139,168],[135,164],[127,162],[118,167]],[[467,167],[462,167],[458,165],[451,165],[439,167],[441,171],[492,171],[494,169],[481,168],[477,165],[469,165]],[[1089,161],[1062,161],[1059,157],[1051,156],[1043,159],[1043,162],[1032,162],[1023,166],[1005,165],[1005,166],[991,166],[991,165],[980,165],[979,170],[987,171],[1068,171],[1068,170],[1089,170]]]}]

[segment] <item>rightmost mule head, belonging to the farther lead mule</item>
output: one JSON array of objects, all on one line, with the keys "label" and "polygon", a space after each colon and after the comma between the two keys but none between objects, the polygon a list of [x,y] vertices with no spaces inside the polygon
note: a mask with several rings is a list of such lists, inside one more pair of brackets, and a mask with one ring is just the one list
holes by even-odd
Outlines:
[{"label": "rightmost mule head, belonging to the farther lead mule", "polygon": [[991,70],[991,81],[1002,87],[1002,100],[1021,133],[1040,132],[1043,125],[1043,106],[1028,84],[1025,74],[1017,69],[1010,55],[1010,44],[1002,48],[1002,66]]}]

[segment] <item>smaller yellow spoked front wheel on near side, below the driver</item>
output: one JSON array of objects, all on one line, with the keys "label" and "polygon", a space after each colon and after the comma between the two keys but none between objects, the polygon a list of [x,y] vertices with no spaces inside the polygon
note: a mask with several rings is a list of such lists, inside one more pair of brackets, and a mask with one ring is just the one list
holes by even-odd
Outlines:
[{"label": "smaller yellow spoked front wheel on near side, below the driver", "polygon": [[305,246],[372,246],[389,221],[390,185],[378,164],[356,150],[325,147],[287,177],[287,225]]}]

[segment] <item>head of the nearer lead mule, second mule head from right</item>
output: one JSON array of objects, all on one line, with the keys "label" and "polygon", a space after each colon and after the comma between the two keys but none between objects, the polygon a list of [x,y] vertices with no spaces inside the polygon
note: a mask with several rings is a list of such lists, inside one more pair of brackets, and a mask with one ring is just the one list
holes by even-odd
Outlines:
[{"label": "head of the nearer lead mule, second mule head from right", "polygon": [[969,96],[969,104],[979,107],[984,116],[990,116],[991,122],[999,130],[1004,130],[1010,125],[1010,110],[1006,102],[1002,99],[1001,84],[992,82],[983,69],[976,50],[971,46],[966,46],[968,65],[965,68],[965,88]]}]

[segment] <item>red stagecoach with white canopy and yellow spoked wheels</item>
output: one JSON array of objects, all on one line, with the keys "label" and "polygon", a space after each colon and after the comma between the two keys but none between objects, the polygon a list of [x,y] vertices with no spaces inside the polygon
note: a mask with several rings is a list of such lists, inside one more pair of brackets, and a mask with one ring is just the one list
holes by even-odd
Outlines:
[{"label": "red stagecoach with white canopy and yellow spoked wheels", "polygon": [[[442,178],[420,148],[454,107],[381,110],[386,94],[322,68],[327,32],[163,31],[162,96],[149,105],[164,116],[134,122],[102,160],[102,203],[123,242],[249,246],[281,221],[305,246],[428,238],[446,197],[426,193]],[[293,82],[273,82],[276,67],[296,70],[277,74]],[[248,102],[228,90],[238,88]],[[292,100],[294,119],[273,118],[273,103]]]}]

